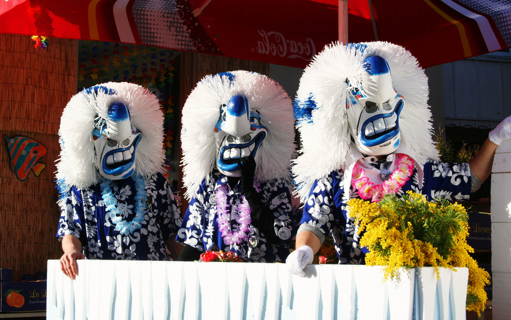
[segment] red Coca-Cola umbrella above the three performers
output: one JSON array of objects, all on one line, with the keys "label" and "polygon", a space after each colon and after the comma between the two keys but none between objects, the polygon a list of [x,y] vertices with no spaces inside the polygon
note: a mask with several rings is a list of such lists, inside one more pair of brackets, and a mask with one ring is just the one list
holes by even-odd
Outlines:
[{"label": "red Coca-Cola umbrella above the three performers", "polygon": [[[508,0],[6,0],[0,33],[145,44],[305,67],[347,26],[423,67],[511,47]],[[340,18],[339,18],[340,17]]]}]

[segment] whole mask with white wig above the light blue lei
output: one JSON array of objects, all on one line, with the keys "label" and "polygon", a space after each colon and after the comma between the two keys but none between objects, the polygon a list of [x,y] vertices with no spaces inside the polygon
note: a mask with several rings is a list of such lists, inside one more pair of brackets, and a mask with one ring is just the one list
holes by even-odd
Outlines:
[{"label": "whole mask with white wig above the light blue lei", "polygon": [[59,206],[73,186],[164,173],[163,123],[156,95],[133,83],[106,82],[75,94],[60,120]]}]

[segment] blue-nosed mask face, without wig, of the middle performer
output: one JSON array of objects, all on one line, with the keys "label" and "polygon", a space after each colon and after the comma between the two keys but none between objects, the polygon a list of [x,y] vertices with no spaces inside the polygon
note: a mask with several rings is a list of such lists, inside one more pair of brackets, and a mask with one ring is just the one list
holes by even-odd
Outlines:
[{"label": "blue-nosed mask face, without wig, of the middle performer", "polygon": [[255,159],[259,146],[268,130],[261,125],[260,114],[250,111],[244,95],[232,96],[228,103],[220,106],[220,118],[215,126],[217,132],[220,173],[229,177],[241,177],[239,162],[242,158]]}]

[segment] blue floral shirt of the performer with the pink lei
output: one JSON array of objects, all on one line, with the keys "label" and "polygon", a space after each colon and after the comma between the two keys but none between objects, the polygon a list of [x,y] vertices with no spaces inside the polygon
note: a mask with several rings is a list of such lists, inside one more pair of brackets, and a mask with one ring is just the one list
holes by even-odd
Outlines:
[{"label": "blue floral shirt of the performer with the pink lei", "polygon": [[[447,163],[431,161],[423,167],[424,178],[422,188],[419,184],[417,168],[406,184],[396,193],[405,194],[413,191],[424,194],[428,201],[445,198],[450,201],[469,199],[471,189],[470,168],[468,163]],[[350,187],[350,192],[344,192],[344,170],[332,171],[328,176],[316,180],[311,188],[304,206],[300,225],[301,230],[313,232],[327,237],[332,233],[339,263],[363,264],[366,248],[359,247],[361,235],[357,234],[358,227],[355,219],[346,212],[346,202],[359,198],[358,192]],[[351,179],[351,177],[348,177]],[[351,185],[351,183],[350,183]],[[349,195],[348,195],[349,194]],[[349,199],[348,199],[349,197]],[[310,229],[310,228],[314,229]]]}]

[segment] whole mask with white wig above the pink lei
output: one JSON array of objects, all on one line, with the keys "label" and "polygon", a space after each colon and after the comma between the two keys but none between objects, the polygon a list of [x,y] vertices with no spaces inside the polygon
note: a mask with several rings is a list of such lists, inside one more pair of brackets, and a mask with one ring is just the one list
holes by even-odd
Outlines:
[{"label": "whole mask with white wig above the pink lei", "polygon": [[360,153],[404,153],[421,165],[438,159],[428,92],[424,69],[399,45],[325,46],[304,69],[295,98],[301,150],[292,170],[300,201],[332,170],[349,172]]}]

